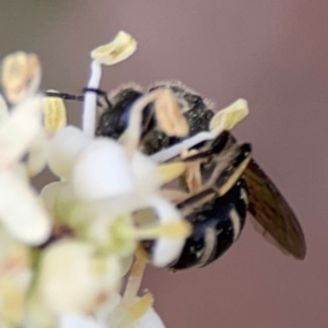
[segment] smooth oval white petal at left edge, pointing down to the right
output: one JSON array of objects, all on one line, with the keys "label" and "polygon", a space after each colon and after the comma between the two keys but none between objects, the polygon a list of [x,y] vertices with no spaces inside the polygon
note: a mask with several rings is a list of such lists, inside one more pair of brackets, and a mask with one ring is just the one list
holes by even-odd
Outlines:
[{"label": "smooth oval white petal at left edge, pointing down to the right", "polygon": [[0,220],[23,243],[38,245],[50,234],[50,218],[35,192],[13,173],[0,172]]}]

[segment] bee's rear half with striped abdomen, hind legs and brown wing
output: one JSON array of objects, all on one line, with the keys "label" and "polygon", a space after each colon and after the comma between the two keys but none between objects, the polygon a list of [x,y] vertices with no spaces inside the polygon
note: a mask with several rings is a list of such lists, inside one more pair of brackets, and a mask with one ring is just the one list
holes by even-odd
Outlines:
[{"label": "bee's rear half with striped abdomen, hind legs and brown wing", "polygon": [[247,212],[269,242],[304,259],[302,227],[281,192],[250,157],[250,144],[236,145],[227,131],[218,139],[224,144],[220,152],[213,147],[215,141],[208,142],[197,155],[185,159],[202,161],[203,187],[177,203],[194,230],[172,268],[203,267],[219,258],[239,237]]}]

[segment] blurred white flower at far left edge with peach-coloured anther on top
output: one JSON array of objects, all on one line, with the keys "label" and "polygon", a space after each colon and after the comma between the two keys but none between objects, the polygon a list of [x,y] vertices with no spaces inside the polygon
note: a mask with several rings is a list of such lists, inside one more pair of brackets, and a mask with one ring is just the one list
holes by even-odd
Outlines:
[{"label": "blurred white flower at far left edge with peach-coloured anther on top", "polygon": [[[42,130],[42,97],[28,93],[36,90],[38,81],[39,69],[34,56],[26,59],[27,63],[32,62],[32,68],[27,63],[24,66],[24,83],[20,83],[21,77],[17,77],[14,68],[21,67],[23,58],[23,52],[8,56],[2,66],[4,91],[19,92],[15,101],[23,101],[0,122],[0,220],[15,238],[37,245],[49,236],[50,220],[28,181],[20,178],[16,172],[30,144]],[[36,71],[37,77],[26,82],[31,78],[31,70]],[[15,83],[11,83],[11,79]],[[11,94],[9,91],[7,93]]]}]

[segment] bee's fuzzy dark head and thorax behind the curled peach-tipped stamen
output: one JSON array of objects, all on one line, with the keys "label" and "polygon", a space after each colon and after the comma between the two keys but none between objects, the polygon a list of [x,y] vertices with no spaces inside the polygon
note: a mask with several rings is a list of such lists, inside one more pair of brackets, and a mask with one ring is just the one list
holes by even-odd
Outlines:
[{"label": "bee's fuzzy dark head and thorax behind the curled peach-tipped stamen", "polygon": [[[152,105],[143,110],[141,150],[151,155],[160,150],[174,145],[181,140],[192,137],[208,129],[214,113],[209,109],[210,102],[187,89],[179,82],[163,82],[149,89],[149,92],[157,87],[171,87],[177,96],[181,110],[189,125],[189,134],[185,138],[168,137],[161,131],[154,118]],[[99,117],[96,134],[118,139],[128,125],[129,113],[133,103],[143,95],[138,85],[119,89],[117,93],[109,96],[112,107],[103,109]]]}]

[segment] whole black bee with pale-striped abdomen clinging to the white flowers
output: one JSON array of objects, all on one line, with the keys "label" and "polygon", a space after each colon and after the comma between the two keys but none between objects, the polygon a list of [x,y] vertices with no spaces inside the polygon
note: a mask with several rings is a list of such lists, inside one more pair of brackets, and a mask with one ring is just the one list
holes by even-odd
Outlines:
[{"label": "whole black bee with pale-striped abdomen clinging to the white flowers", "polygon": [[[160,162],[183,161],[194,174],[192,181],[188,181],[187,175],[179,177],[178,189],[186,196],[174,200],[191,223],[192,233],[168,267],[181,270],[216,260],[241,236],[247,213],[266,239],[283,253],[304,259],[306,244],[302,227],[282,194],[251,157],[249,143],[239,144],[230,131],[222,131],[213,140],[194,142],[185,156],[167,155],[167,150],[209,131],[214,112],[210,101],[179,82],[161,82],[148,92],[163,86],[175,94],[189,133],[184,138],[166,136],[157,128],[154,110],[149,105],[142,114],[140,150]],[[119,89],[112,96],[95,92],[103,97],[96,134],[119,139],[127,128],[132,105],[144,92],[134,85]],[[156,241],[144,242],[143,247],[151,257]]]}]

